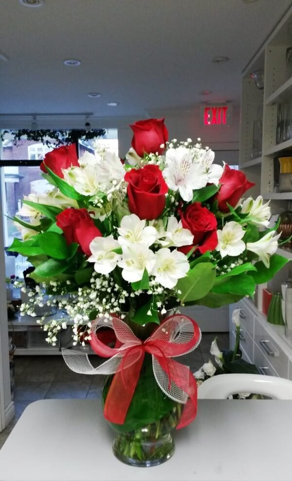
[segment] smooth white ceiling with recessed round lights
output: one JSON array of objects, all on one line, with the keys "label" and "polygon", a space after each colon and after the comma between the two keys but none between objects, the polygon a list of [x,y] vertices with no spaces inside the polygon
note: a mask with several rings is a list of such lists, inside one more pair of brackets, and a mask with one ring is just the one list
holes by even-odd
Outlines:
[{"label": "smooth white ceiling with recessed round lights", "polygon": [[[0,0],[0,52],[9,58],[0,60],[0,114],[138,118],[206,100],[238,105],[242,70],[291,4],[45,0],[27,8]],[[212,63],[215,56],[230,61]],[[68,58],[81,66],[64,66]],[[205,89],[213,91],[208,99]]]}]

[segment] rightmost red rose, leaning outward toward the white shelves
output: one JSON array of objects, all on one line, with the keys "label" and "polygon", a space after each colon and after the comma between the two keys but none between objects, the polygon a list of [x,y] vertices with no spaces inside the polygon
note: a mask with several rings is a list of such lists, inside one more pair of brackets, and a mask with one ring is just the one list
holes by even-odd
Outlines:
[{"label": "rightmost red rose, leaning outward toward the white shelves", "polygon": [[244,192],[256,185],[246,180],[243,172],[231,169],[227,164],[225,164],[219,184],[221,184],[221,187],[215,196],[215,200],[218,200],[218,209],[221,212],[229,212],[227,203],[231,207],[235,207]]}]

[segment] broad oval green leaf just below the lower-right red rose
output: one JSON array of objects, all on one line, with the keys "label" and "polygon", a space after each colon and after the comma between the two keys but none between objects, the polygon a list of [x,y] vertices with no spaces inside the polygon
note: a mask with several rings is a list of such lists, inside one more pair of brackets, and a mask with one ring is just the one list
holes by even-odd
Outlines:
[{"label": "broad oval green leaf just below the lower-right red rose", "polygon": [[216,278],[216,270],[211,262],[201,262],[190,269],[182,279],[179,279],[176,288],[182,294],[178,297],[182,302],[193,302],[204,297],[212,288]]}]

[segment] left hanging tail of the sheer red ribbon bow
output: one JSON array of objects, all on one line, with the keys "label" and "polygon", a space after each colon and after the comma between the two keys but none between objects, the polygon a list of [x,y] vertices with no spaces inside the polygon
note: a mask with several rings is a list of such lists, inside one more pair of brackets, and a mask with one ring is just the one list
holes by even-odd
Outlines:
[{"label": "left hanging tail of the sheer red ribbon bow", "polygon": [[121,369],[120,366],[111,381],[104,405],[104,417],[114,424],[124,424],[125,422],[145,357],[144,350],[139,349],[139,351],[138,358],[128,367],[124,366]]}]

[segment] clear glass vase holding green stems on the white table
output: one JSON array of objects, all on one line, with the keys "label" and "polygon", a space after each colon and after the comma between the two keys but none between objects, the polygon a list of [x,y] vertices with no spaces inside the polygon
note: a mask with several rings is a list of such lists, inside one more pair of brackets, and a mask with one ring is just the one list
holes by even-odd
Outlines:
[{"label": "clear glass vase holding green stems on the white table", "polygon": [[[140,339],[151,334],[148,324],[145,328],[133,328],[131,323],[130,327]],[[103,405],[112,379],[110,375],[104,383]],[[171,458],[175,449],[171,431],[178,425],[183,407],[160,389],[153,374],[152,357],[146,353],[124,424],[110,423],[116,432],[113,441],[116,458],[132,466],[155,466]]]}]

